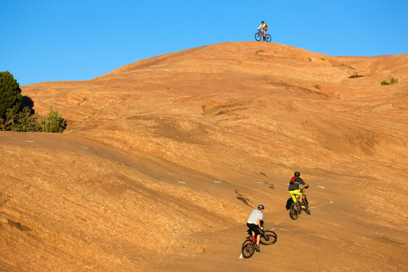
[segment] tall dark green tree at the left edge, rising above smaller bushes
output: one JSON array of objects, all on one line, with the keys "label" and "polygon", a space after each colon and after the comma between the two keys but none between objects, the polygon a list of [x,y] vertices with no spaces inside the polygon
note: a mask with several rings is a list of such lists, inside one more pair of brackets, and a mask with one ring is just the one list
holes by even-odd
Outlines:
[{"label": "tall dark green tree at the left edge, rising above smaller bushes", "polygon": [[0,72],[0,118],[6,118],[6,111],[17,114],[22,103],[20,86],[9,71]]}]

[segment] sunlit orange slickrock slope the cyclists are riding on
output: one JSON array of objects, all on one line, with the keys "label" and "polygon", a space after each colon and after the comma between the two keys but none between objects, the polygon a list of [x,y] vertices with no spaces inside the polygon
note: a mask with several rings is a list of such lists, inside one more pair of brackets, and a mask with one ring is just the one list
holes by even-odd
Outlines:
[{"label": "sunlit orange slickrock slope the cyclists are riding on", "polygon": [[[288,271],[298,247],[303,270],[406,269],[407,77],[408,55],[234,42],[22,86],[67,129],[0,132],[0,268]],[[278,240],[240,260],[258,204]]]}]

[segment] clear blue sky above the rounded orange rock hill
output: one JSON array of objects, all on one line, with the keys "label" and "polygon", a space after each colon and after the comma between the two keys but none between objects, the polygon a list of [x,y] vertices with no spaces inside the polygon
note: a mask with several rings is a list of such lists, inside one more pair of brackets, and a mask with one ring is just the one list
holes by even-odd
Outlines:
[{"label": "clear blue sky above the rounded orange rock hill", "polygon": [[408,0],[0,0],[0,71],[20,86],[88,80],[187,48],[272,42],[331,56],[408,53]]}]

